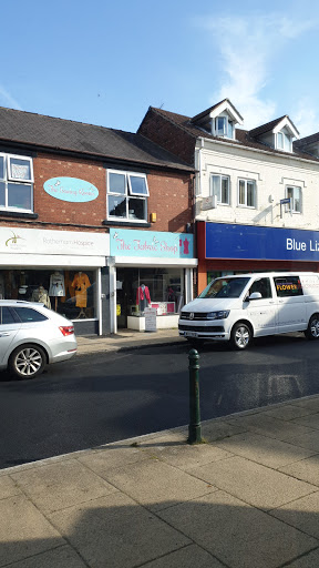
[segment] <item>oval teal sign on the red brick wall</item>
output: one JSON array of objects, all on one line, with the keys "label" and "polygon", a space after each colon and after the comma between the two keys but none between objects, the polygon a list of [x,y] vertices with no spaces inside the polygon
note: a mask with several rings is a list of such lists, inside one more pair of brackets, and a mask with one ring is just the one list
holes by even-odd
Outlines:
[{"label": "oval teal sign on the red brick wall", "polygon": [[85,203],[96,200],[99,190],[90,182],[78,178],[51,178],[43,183],[43,189],[55,200],[71,203]]}]

